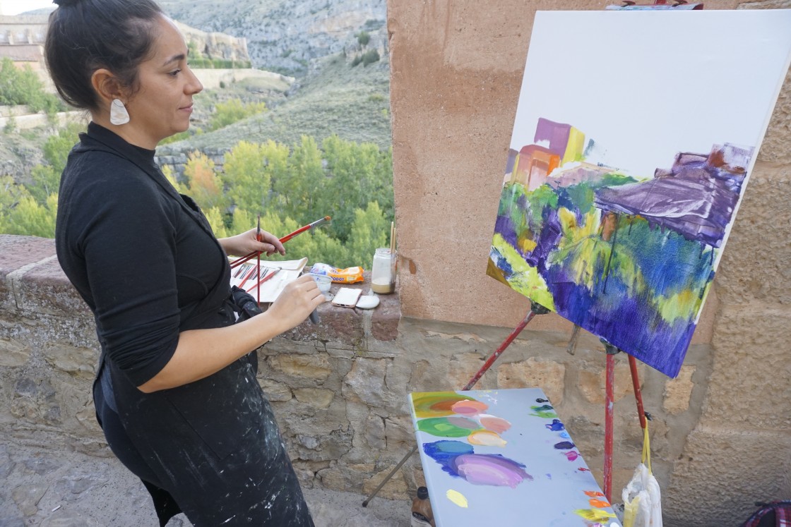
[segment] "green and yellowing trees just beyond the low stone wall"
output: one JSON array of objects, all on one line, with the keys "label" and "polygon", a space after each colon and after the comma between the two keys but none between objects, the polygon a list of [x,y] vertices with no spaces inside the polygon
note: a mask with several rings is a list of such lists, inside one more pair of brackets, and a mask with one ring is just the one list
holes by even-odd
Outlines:
[{"label": "green and yellowing trees just beyond the low stone wall", "polygon": [[[53,236],[60,172],[76,129],[50,137],[45,164],[32,170],[35,185],[0,178],[0,232]],[[187,156],[183,177],[168,166],[165,178],[200,205],[218,237],[255,227],[282,237],[302,225],[331,216],[331,224],[286,244],[286,256],[311,263],[368,269],[377,247],[387,247],[393,218],[392,150],[327,137],[319,146],[303,136],[289,147],[275,141],[241,141],[225,154],[220,171],[206,154]]]}]

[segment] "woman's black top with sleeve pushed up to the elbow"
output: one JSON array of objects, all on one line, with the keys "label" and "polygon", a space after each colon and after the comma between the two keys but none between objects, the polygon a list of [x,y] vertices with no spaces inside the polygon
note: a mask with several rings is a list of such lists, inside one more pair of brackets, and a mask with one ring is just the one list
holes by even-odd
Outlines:
[{"label": "woman's black top with sleeve pushed up to the elbow", "polygon": [[180,331],[214,326],[229,295],[227,258],[195,202],[153,150],[93,122],[62,174],[55,244],[105,356],[134,386],[165,367]]}]

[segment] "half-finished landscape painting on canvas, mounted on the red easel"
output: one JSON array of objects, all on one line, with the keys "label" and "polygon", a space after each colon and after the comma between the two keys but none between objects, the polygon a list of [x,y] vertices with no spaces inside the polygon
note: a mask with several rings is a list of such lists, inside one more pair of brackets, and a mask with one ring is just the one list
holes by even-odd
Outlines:
[{"label": "half-finished landscape painting on canvas, mounted on the red easel", "polygon": [[536,13],[486,273],[678,375],[789,28],[789,9]]}]

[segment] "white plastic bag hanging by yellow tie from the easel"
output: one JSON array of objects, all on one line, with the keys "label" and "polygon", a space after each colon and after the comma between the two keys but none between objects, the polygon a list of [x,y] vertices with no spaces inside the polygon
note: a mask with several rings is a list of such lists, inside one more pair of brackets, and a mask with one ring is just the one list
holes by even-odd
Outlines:
[{"label": "white plastic bag hanging by yellow tie from the easel", "polygon": [[662,496],[651,472],[648,425],[643,429],[642,462],[623,489],[623,527],[662,527]]}]

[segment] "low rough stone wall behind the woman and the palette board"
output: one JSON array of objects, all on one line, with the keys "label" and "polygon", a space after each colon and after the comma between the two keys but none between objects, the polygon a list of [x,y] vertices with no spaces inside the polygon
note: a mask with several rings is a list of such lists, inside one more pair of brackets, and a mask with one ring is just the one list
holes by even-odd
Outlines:
[{"label": "low rough stone wall behind the woman and the palette board", "polygon": [[[460,389],[511,331],[401,318],[397,295],[381,299],[374,311],[324,304],[319,326],[303,324],[259,354],[259,382],[306,487],[373,491],[414,446],[407,393]],[[574,356],[567,343],[566,333],[528,326],[476,388],[543,388],[601,481],[604,348],[587,333]],[[77,450],[112,462],[90,399],[97,356],[93,318],[63,276],[53,240],[0,235],[0,443]],[[674,380],[641,367],[646,410],[654,416],[654,469],[665,489],[676,460],[687,459],[684,438],[698,430],[712,372],[708,344],[692,346]],[[615,416],[617,494],[642,448],[623,355],[616,356]],[[715,468],[685,470],[694,479]],[[414,456],[380,495],[403,499],[423,483]],[[738,506],[747,508],[752,499],[744,496]],[[686,514],[672,503],[666,510]]]}]

